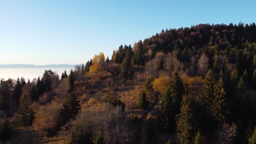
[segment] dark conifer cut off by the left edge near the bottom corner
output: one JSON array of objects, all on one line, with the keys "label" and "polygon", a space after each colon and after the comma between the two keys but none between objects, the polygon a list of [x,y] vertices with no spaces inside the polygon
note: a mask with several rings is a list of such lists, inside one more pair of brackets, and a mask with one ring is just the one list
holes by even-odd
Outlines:
[{"label": "dark conifer cut off by the left edge near the bottom corner", "polygon": [[0,143],[8,140],[10,136],[10,128],[7,118],[0,117]]}]

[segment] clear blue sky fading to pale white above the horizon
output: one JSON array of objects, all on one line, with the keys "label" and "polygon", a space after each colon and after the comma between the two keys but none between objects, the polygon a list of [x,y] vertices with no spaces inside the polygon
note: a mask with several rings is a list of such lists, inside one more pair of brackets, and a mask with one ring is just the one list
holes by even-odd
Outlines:
[{"label": "clear blue sky fading to pale white above the horizon", "polygon": [[255,1],[0,2],[0,64],[80,64],[162,29],[252,23]]}]

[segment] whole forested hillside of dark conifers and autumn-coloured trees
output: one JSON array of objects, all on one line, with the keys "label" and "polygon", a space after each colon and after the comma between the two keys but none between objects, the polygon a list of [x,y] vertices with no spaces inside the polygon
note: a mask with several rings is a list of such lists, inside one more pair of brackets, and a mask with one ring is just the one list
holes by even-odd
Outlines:
[{"label": "whole forested hillside of dark conifers and autumn-coloured trees", "polygon": [[256,143],[256,25],[166,29],[0,82],[0,143]]}]

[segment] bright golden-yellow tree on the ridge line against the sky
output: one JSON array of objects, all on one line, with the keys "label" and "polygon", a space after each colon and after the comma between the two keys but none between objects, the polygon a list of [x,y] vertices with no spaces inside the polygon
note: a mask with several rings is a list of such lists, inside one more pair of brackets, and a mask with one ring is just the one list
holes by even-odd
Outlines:
[{"label": "bright golden-yellow tree on the ridge line against the sky", "polygon": [[105,56],[103,52],[100,52],[98,55],[95,55],[94,58],[92,58],[92,65],[89,69],[89,73],[98,73],[104,68],[105,64]]}]

